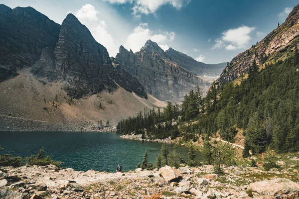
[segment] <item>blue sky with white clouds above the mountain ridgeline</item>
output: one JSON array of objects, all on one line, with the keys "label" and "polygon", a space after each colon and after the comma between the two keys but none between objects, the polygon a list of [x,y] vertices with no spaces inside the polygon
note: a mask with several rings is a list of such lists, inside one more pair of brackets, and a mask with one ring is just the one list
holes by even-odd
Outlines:
[{"label": "blue sky with white clouds above the mountain ridgeline", "polygon": [[231,61],[282,24],[298,0],[0,0],[61,24],[73,13],[115,57],[151,39],[207,64]]}]

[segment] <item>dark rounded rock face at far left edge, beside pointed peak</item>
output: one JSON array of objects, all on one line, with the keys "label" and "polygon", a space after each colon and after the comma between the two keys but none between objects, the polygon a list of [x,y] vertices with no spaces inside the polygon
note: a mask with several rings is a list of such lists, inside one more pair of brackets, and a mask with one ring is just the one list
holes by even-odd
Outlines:
[{"label": "dark rounded rock face at far left edge, beside pointed peak", "polygon": [[32,7],[0,4],[0,82],[32,66],[45,47],[54,49],[60,25]]}]

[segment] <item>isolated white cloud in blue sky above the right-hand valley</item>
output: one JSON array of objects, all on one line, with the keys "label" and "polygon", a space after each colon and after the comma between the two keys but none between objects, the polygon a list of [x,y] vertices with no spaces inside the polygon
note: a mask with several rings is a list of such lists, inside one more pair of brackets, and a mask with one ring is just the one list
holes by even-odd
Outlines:
[{"label": "isolated white cloud in blue sky above the right-hand valley", "polygon": [[241,26],[222,32],[222,37],[215,40],[215,48],[225,48],[227,50],[243,49],[249,44],[252,39],[251,33],[255,30],[255,27]]}]

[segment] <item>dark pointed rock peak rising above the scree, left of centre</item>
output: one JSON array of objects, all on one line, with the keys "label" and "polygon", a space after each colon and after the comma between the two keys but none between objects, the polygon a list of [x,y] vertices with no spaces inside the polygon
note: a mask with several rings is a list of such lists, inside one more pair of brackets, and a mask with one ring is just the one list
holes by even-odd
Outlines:
[{"label": "dark pointed rock peak rising above the scree, left of centre", "polygon": [[45,60],[36,63],[33,73],[61,80],[74,98],[99,93],[105,87],[116,88],[115,72],[106,48],[96,42],[73,14],[68,14],[62,22],[54,56],[54,67],[50,64],[44,67],[45,61],[51,63],[51,59],[44,57]]}]

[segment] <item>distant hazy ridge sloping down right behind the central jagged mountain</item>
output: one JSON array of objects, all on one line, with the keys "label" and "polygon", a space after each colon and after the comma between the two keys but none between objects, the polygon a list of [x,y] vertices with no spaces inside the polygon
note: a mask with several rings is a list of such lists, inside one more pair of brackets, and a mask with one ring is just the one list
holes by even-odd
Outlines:
[{"label": "distant hazy ridge sloping down right behind the central jagged mountain", "polygon": [[194,60],[192,57],[178,52],[172,48],[165,51],[169,59],[197,76],[219,77],[227,63],[205,64]]}]

